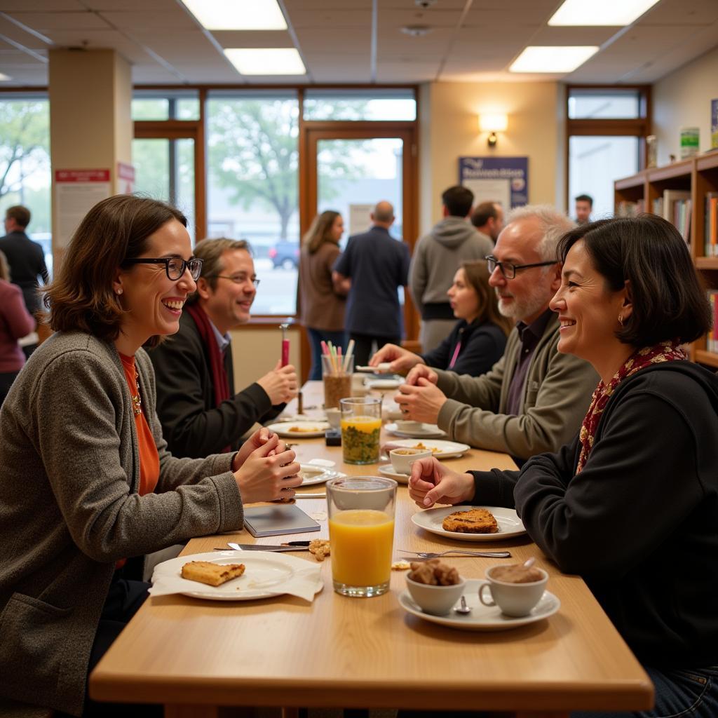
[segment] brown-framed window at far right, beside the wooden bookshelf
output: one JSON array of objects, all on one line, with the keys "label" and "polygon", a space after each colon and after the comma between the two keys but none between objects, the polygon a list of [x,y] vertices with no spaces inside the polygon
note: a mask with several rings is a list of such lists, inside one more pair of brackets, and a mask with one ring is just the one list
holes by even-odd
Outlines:
[{"label": "brown-framed window at far right, beside the wooden bookshelf", "polygon": [[644,164],[651,134],[647,87],[569,87],[569,214],[574,197],[593,197],[592,219],[613,215],[613,182]]}]

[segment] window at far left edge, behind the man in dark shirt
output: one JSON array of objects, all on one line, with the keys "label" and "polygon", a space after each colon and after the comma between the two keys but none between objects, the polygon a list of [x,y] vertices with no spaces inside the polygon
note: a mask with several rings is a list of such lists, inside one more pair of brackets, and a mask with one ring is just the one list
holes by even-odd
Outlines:
[{"label": "window at far left edge, behind the man in dark shirt", "polygon": [[46,95],[0,95],[0,213],[12,205],[30,210],[27,232],[52,274],[49,105]]}]

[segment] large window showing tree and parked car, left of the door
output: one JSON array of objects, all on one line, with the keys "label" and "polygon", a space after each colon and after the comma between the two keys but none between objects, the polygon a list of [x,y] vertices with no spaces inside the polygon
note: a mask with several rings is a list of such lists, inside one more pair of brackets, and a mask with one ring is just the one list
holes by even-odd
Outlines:
[{"label": "large window showing tree and parked car, left of the door", "polygon": [[299,264],[299,101],[211,92],[208,235],[247,239],[261,279],[255,314],[294,314]]}]

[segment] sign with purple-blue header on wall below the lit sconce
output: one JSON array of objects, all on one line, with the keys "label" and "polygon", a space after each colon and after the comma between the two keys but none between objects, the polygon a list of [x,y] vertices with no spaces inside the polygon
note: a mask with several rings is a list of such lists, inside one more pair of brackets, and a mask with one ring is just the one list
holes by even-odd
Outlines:
[{"label": "sign with purple-blue header on wall below the lit sconce", "polygon": [[528,204],[528,157],[460,157],[459,184],[505,210]]}]

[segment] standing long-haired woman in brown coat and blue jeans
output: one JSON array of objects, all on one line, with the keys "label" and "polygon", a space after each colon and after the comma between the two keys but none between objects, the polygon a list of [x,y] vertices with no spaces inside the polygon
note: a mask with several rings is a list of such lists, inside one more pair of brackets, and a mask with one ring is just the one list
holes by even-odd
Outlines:
[{"label": "standing long-haired woman in brown coat and blue jeans", "polygon": [[317,215],[302,239],[299,253],[299,301],[302,325],[307,327],[312,348],[309,379],[322,378],[322,342],[345,348],[344,309],[349,282],[335,285],[332,268],[341,251],[342,215],[326,210]]}]

